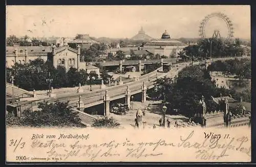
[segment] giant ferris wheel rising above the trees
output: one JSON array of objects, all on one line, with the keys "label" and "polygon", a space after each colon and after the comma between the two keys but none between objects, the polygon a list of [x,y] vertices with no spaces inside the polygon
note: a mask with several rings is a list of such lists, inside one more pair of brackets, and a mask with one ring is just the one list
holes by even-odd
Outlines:
[{"label": "giant ferris wheel rising above the trees", "polygon": [[[220,20],[223,20],[225,23],[225,27],[222,31],[226,31],[226,35],[224,37],[221,37],[221,30],[219,28],[213,30],[210,34],[206,34],[206,30],[207,30],[207,24],[209,23],[209,21],[214,18],[217,17]],[[218,23],[216,23],[216,25],[218,25]],[[233,37],[233,23],[231,22],[231,20],[229,19],[229,17],[227,17],[227,15],[223,14],[223,13],[211,13],[208,14],[207,16],[204,17],[204,19],[201,21],[200,26],[199,26],[199,36],[202,38],[224,38],[225,41],[228,41],[230,38]]]}]

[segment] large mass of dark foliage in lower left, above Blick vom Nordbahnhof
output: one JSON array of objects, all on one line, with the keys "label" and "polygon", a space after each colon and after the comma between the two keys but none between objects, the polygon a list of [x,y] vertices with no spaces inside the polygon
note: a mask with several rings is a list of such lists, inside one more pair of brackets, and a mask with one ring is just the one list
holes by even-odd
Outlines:
[{"label": "large mass of dark foliage in lower left, above Blick vom Nordbahnhof", "polygon": [[25,110],[21,118],[7,116],[7,125],[31,127],[85,127],[85,125],[81,124],[78,113],[74,112],[71,107],[68,106],[68,102],[41,102],[38,108],[40,108],[40,110],[34,112]]}]

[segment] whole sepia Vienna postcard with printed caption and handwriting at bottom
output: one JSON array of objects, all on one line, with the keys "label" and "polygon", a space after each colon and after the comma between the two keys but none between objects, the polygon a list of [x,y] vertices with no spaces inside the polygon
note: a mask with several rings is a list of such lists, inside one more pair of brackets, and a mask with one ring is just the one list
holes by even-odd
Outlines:
[{"label": "whole sepia Vienna postcard with printed caption and handwriting at bottom", "polygon": [[6,6],[7,161],[250,162],[250,21],[248,5]]}]

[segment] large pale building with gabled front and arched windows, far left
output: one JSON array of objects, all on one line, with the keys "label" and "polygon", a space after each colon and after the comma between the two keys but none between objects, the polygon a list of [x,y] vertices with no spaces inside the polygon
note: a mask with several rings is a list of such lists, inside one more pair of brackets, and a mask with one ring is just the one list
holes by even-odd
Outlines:
[{"label": "large pale building with gabled front and arched windows, far left", "polygon": [[90,73],[95,71],[99,74],[99,68],[86,65],[86,62],[80,62],[80,50],[69,47],[67,43],[63,46],[7,46],[6,47],[6,67],[11,68],[15,63],[26,65],[38,58],[44,62],[50,61],[52,65],[65,67],[68,71],[71,67],[84,69]]}]

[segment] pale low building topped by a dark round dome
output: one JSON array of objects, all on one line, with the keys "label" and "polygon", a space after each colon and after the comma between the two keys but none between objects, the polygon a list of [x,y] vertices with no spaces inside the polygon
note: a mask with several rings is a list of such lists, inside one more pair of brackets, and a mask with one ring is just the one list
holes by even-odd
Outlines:
[{"label": "pale low building topped by a dark round dome", "polygon": [[160,40],[144,44],[144,50],[147,50],[154,55],[159,54],[160,56],[177,57],[178,53],[186,46],[188,45],[181,41],[172,40],[165,30]]}]

